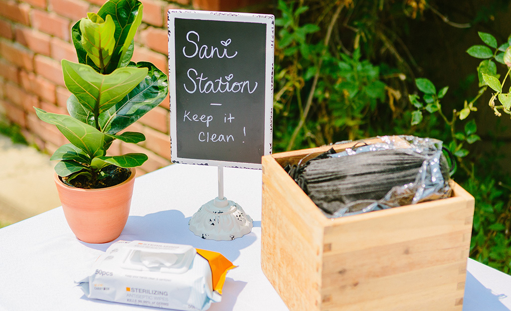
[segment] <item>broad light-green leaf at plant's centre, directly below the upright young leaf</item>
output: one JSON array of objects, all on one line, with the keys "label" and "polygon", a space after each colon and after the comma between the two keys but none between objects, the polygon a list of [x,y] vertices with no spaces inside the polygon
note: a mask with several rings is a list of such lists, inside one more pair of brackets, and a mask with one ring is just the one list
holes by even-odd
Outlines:
[{"label": "broad light-green leaf at plant's centre, directly below the upright young leaf", "polygon": [[65,86],[77,97],[83,109],[102,113],[144,80],[148,69],[126,67],[101,74],[87,65],[64,59],[62,72]]}]

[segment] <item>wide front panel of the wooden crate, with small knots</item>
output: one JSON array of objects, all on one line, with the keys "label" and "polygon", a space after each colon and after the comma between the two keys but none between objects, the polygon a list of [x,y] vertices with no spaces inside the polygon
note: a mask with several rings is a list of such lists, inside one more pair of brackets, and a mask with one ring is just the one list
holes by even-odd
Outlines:
[{"label": "wide front panel of the wooden crate, with small knots", "polygon": [[454,193],[327,227],[321,309],[461,310],[474,199]]}]

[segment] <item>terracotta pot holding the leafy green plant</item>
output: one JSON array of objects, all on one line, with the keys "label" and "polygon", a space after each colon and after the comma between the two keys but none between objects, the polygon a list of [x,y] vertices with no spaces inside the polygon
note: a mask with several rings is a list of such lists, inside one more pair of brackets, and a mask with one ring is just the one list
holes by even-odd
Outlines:
[{"label": "terracotta pot holding the leafy green plant", "polygon": [[135,169],[123,183],[103,189],[81,189],[65,185],[55,173],[62,209],[75,236],[86,243],[117,239],[128,220],[135,183]]}]

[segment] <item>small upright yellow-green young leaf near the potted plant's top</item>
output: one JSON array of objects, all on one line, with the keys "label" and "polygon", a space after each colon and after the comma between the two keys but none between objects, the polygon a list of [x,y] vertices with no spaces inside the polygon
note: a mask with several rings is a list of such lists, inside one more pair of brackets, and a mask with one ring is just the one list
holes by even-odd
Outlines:
[{"label": "small upright yellow-green young leaf near the potted plant's top", "polygon": [[106,19],[96,13],[87,13],[80,20],[82,46],[87,56],[102,70],[110,62],[115,47],[115,24],[110,15]]}]

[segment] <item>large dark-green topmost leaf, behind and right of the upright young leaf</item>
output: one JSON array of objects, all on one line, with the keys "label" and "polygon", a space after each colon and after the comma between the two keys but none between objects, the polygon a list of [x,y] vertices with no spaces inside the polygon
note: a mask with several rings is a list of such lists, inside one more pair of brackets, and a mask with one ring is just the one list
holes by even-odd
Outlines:
[{"label": "large dark-green topmost leaf, behind and right of the upright young leaf", "polygon": [[110,0],[98,11],[98,15],[103,18],[111,15],[115,23],[115,49],[107,73],[126,61],[123,59],[128,53],[138,26],[142,23],[142,11],[143,5],[138,0]]}]

